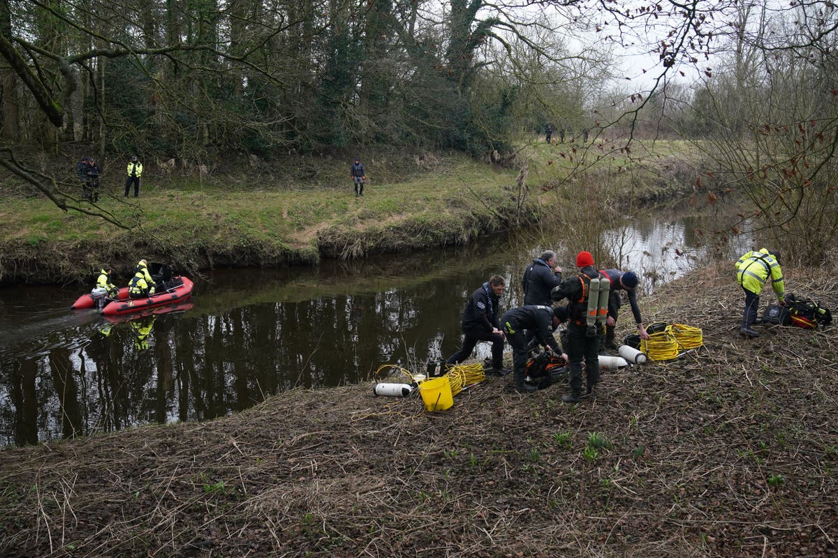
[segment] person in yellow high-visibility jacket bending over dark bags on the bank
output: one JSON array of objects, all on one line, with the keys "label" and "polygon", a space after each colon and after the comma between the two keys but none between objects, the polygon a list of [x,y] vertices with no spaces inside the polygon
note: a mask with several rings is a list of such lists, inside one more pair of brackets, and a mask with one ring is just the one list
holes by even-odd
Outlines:
[{"label": "person in yellow high-visibility jacket bending over dark bags on the bank", "polygon": [[739,333],[746,337],[758,337],[758,331],[751,327],[757,320],[759,294],[768,277],[777,295],[777,304],[785,305],[785,283],[783,269],[780,269],[780,253],[762,248],[744,254],[736,263],[736,276],[739,286],[745,291],[745,310],[742,311],[742,324]]}]

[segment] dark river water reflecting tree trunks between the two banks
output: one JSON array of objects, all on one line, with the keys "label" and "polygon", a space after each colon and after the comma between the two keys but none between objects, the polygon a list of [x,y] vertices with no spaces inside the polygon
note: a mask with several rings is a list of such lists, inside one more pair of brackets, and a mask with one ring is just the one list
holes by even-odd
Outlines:
[{"label": "dark river water reflecting tree trunks between the two banks", "polygon": [[[681,218],[608,231],[597,263],[639,271],[649,292],[737,251],[702,246],[697,224]],[[87,287],[0,289],[0,444],[220,417],[294,387],[369,380],[371,390],[382,365],[422,371],[452,354],[463,301],[492,274],[507,278],[501,311],[519,305],[521,274],[544,248],[571,270],[578,250],[593,251],[497,238],[315,268],[216,271],[193,278],[189,303],[117,322],[70,310]],[[476,356],[487,349],[478,346]]]}]

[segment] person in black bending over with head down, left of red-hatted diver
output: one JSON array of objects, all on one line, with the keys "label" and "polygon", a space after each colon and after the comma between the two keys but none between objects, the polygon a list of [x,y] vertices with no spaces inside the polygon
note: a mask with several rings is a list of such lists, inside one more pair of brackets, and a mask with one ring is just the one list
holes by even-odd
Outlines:
[{"label": "person in black bending over with head down, left of red-hatted diver", "polygon": [[543,305],[519,306],[501,316],[500,323],[504,328],[506,340],[512,346],[516,392],[535,392],[538,389],[524,381],[526,361],[530,358],[530,347],[527,344],[525,330],[534,332],[539,344],[546,349],[549,348],[554,355],[567,358],[561,351],[556,337],[553,336],[553,330],[561,322],[561,310],[561,308],[554,310],[550,306]]}]

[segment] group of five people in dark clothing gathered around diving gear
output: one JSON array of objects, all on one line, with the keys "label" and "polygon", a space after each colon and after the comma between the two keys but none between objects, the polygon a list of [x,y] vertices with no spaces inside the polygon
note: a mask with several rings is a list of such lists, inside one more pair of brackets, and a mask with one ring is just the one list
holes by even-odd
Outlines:
[{"label": "group of five people in dark clothing gathered around diving gear", "polygon": [[[546,250],[532,261],[524,272],[521,286],[524,305],[508,310],[499,316],[500,297],[506,287],[505,279],[493,275],[475,290],[463,309],[463,345],[447,359],[448,365],[468,359],[480,341],[492,345],[491,366],[487,373],[504,376],[504,342],[512,347],[515,390],[519,393],[535,392],[537,387],[526,379],[526,364],[532,351],[542,346],[554,356],[561,356],[568,366],[570,392],[561,397],[563,402],[581,402],[589,396],[599,381],[599,351],[602,346],[616,348],[614,326],[622,305],[621,291],[628,294],[634,320],[642,339],[649,339],[637,305],[637,274],[619,269],[597,271],[591,253],[580,252],[576,259],[577,274],[562,276],[556,253]],[[589,285],[591,279],[607,280],[608,318],[605,327],[590,328],[586,322]],[[561,305],[563,300],[566,304]],[[563,336],[564,350],[556,341],[554,332],[566,324]],[[582,392],[582,362],[586,372],[585,390]]]}]

